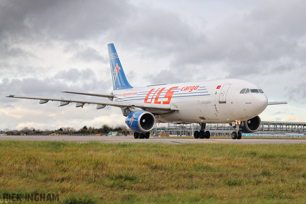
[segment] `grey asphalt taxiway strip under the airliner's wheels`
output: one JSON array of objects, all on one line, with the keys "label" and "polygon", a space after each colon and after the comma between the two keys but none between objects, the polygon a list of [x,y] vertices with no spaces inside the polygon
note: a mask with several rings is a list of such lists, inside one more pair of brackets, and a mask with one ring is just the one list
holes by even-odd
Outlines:
[{"label": "grey asphalt taxiway strip under the airliner's wheels", "polygon": [[88,142],[101,141],[107,143],[114,142],[145,142],[145,143],[236,143],[236,144],[306,144],[306,139],[195,139],[179,137],[150,137],[149,139],[134,139],[133,136],[71,136],[71,135],[0,135],[0,141],[17,140],[17,141],[69,141],[69,142]]}]

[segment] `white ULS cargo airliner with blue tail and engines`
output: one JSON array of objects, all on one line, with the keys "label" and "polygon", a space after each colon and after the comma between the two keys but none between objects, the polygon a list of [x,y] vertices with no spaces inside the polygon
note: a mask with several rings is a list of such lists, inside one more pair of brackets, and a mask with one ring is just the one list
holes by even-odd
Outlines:
[{"label": "white ULS cargo airliner with blue tail and engines", "polygon": [[259,113],[268,105],[287,102],[268,102],[256,84],[241,79],[218,79],[188,83],[159,84],[134,88],[125,77],[113,43],[107,45],[113,91],[107,94],[62,91],[63,93],[108,98],[81,98],[8,95],[9,98],[38,99],[39,104],[59,101],[59,106],[76,103],[76,107],[96,104],[121,108],[125,123],[134,131],[135,139],[148,139],[156,123],[200,124],[194,138],[209,139],[207,123],[229,123],[233,126],[232,139],[241,139],[241,132],[256,132],[260,128]]}]

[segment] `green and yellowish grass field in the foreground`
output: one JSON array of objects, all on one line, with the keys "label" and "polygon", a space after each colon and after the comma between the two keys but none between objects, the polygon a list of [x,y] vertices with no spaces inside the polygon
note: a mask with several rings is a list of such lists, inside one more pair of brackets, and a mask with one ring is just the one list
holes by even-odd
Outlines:
[{"label": "green and yellowish grass field in the foreground", "polygon": [[0,186],[52,203],[306,203],[306,145],[1,141]]}]

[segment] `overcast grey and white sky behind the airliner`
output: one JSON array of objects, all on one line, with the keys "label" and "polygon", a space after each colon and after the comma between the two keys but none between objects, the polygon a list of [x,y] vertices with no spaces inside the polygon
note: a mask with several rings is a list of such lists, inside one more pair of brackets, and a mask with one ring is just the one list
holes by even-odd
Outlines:
[{"label": "overcast grey and white sky behind the airliner", "polygon": [[288,102],[262,121],[305,122],[305,11],[304,0],[0,0],[0,129],[125,124],[115,107],[5,98],[111,91],[108,43],[133,87],[231,76]]}]

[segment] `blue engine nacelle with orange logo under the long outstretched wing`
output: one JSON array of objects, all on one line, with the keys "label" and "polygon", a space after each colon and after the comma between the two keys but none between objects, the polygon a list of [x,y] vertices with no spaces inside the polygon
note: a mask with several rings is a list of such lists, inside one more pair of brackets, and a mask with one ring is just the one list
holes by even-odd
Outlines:
[{"label": "blue engine nacelle with orange logo under the long outstretched wing", "polygon": [[147,111],[134,111],[125,119],[125,123],[135,132],[150,132],[155,125],[155,117]]}]

